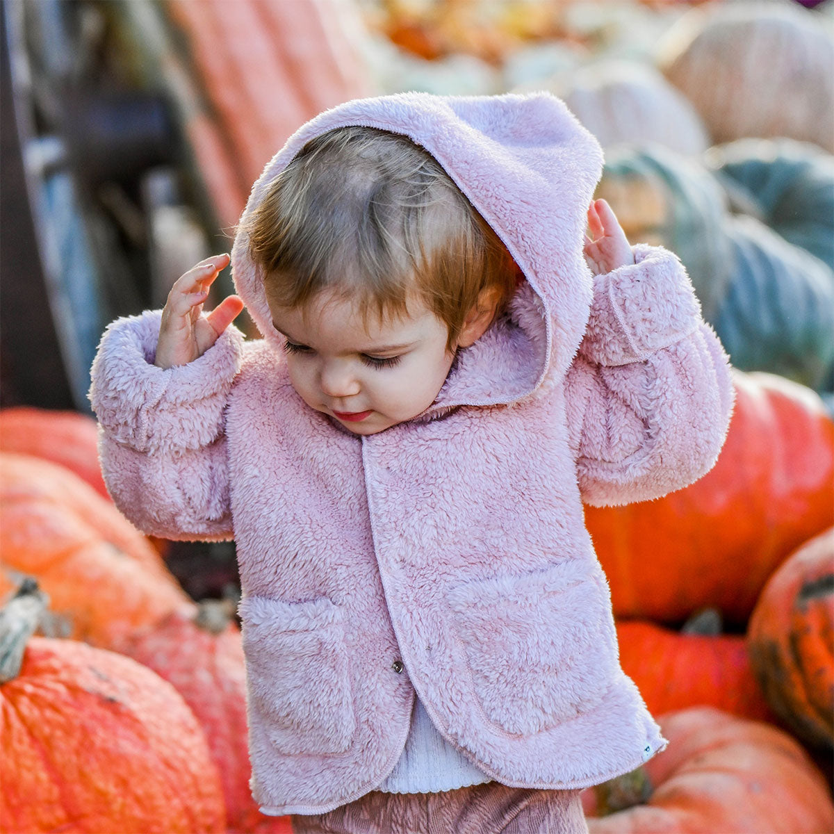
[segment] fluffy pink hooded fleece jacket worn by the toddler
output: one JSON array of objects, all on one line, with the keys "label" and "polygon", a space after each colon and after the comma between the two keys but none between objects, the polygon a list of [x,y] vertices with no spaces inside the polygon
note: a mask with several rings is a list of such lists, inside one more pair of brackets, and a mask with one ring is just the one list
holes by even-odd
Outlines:
[{"label": "fluffy pink hooded fleece jacket worn by the toddler", "polygon": [[591,276],[602,156],[549,94],[346,103],[289,139],[246,211],[309,138],[349,124],[440,161],[524,271],[508,314],[424,414],[360,437],[295,393],[239,238],[234,280],[264,339],[230,328],[162,370],[158,312],[104,334],[91,399],[108,488],[149,533],[234,535],[264,811],[328,811],[379,785],[415,691],[505,785],[605,781],[665,740],[620,669],[582,502],[655,498],[711,468],[726,354],[673,254],[636,246],[635,265]]}]

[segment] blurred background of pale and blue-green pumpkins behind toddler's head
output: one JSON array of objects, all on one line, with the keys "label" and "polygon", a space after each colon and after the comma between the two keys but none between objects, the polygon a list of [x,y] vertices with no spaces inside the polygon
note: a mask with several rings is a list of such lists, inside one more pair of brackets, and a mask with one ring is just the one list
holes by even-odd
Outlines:
[{"label": "blurred background of pale and blue-green pumpkins behind toddler's head", "polygon": [[289,134],[401,90],[565,98],[606,149],[600,194],[681,255],[736,367],[830,392],[832,20],[791,0],[3,0],[2,404],[87,410],[105,325],[229,249]]}]

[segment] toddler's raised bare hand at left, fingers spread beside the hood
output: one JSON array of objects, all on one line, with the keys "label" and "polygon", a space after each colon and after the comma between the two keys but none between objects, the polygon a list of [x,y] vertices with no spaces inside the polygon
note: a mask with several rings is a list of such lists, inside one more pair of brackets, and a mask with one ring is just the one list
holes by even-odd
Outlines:
[{"label": "toddler's raised bare hand at left, fingers spread beside the hood", "polygon": [[229,295],[203,318],[203,302],[219,271],[229,264],[229,255],[214,255],[181,275],[168,293],[159,327],[157,354],[159,368],[188,364],[202,356],[229,327],[244,302]]}]

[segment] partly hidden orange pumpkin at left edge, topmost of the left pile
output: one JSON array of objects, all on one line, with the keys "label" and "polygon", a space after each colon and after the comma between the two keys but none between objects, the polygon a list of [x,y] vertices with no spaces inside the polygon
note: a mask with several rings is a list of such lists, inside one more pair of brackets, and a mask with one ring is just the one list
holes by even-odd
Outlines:
[{"label": "partly hidden orange pumpkin at left edge, topmost of the left pile", "polygon": [[87,414],[28,405],[0,409],[0,450],[66,466],[109,499],[98,464],[97,443],[98,426]]}]

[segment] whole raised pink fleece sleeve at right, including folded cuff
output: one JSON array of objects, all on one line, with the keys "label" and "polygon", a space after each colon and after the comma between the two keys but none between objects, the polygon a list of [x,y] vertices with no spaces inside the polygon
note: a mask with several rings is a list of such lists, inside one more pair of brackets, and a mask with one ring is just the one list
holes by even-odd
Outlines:
[{"label": "whole raised pink fleece sleeve at right, including folded cuff", "polygon": [[674,254],[595,276],[585,337],[565,378],[580,491],[590,505],[659,498],[705,475],[733,404],[729,359]]}]

